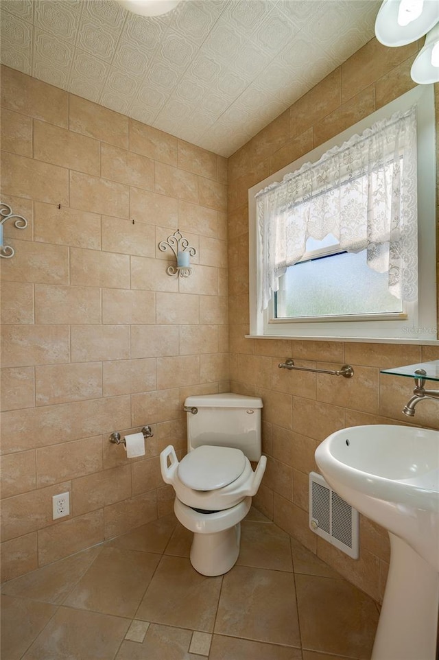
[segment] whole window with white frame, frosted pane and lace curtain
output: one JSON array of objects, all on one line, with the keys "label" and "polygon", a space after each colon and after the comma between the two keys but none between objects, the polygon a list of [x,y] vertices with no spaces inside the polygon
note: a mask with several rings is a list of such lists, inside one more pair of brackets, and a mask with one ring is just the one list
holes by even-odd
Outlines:
[{"label": "whole window with white frame, frosted pane and lace curtain", "polygon": [[250,189],[252,336],[437,339],[434,129],[420,86]]}]

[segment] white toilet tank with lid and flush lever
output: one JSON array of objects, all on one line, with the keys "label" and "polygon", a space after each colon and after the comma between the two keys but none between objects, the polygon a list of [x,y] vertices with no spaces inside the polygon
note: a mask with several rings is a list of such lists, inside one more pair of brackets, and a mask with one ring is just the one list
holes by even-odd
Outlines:
[{"label": "white toilet tank with lid and flush lever", "polygon": [[200,445],[241,449],[249,460],[261,458],[262,399],[242,394],[203,394],[187,397],[187,451]]}]

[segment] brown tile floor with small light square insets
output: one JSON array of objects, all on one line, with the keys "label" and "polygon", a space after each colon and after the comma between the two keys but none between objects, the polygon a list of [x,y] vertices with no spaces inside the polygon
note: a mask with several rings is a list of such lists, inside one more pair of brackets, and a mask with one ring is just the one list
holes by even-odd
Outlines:
[{"label": "brown tile floor with small light square insets", "polygon": [[174,516],[1,589],[2,660],[368,660],[375,602],[250,510],[224,576]]}]

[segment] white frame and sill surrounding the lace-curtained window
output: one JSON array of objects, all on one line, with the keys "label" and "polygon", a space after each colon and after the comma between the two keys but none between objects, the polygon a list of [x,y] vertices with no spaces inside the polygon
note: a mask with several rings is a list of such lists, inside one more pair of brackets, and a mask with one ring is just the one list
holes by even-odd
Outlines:
[{"label": "white frame and sill surrounding the lace-curtained window", "polygon": [[[272,319],[273,300],[262,312],[257,307],[257,291],[261,285],[261,268],[257,255],[257,215],[254,196],[272,182],[280,182],[285,174],[294,172],[304,163],[315,162],[336,145],[373,123],[390,117],[397,110],[417,105],[418,153],[418,287],[416,303],[404,303],[404,314],[365,320],[361,316],[346,320],[313,320],[298,322]],[[418,85],[401,97],[383,106],[365,119],[337,134],[331,140],[298,158],[275,174],[254,185],[248,191],[249,211],[249,305],[250,334],[248,338],[285,338],[300,340],[339,340],[364,342],[417,342],[439,344],[436,316],[436,115],[434,86]],[[348,319],[348,320],[347,320]]]}]

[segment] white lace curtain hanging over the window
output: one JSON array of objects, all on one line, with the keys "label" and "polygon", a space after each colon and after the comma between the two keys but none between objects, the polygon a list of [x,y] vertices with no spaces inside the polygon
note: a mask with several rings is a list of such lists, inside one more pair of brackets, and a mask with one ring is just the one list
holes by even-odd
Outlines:
[{"label": "white lace curtain hanging over the window", "polygon": [[259,305],[305,254],[331,233],[347,252],[367,250],[389,291],[417,298],[416,107],[375,123],[257,193]]}]

